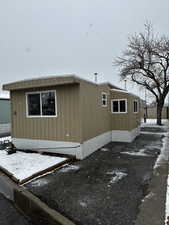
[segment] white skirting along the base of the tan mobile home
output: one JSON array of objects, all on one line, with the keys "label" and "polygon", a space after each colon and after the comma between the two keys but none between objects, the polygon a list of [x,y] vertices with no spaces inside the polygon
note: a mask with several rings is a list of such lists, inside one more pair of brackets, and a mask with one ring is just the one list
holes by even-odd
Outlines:
[{"label": "white skirting along the base of the tan mobile home", "polygon": [[12,141],[18,149],[68,154],[76,156],[77,159],[84,159],[111,141],[132,142],[139,133],[139,127],[132,131],[113,130],[84,141],[83,143],[24,138],[12,138]]}]

